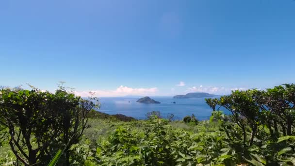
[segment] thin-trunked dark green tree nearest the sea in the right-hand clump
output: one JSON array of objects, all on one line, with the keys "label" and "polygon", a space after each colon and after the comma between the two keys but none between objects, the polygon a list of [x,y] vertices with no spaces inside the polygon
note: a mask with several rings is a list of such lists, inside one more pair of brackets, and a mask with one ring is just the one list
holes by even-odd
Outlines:
[{"label": "thin-trunked dark green tree nearest the sea in the right-hand clump", "polygon": [[[240,162],[244,162],[249,157],[247,149],[252,146],[258,127],[261,125],[260,108],[254,100],[256,91],[236,90],[232,91],[228,96],[221,97],[220,100],[216,101],[217,104],[229,110],[231,115],[225,116],[220,111],[213,111],[213,116],[210,118],[210,121],[216,119],[221,124],[220,130],[224,131],[228,136],[227,141],[229,141],[230,147],[236,150],[236,154],[238,154],[237,158]],[[210,103],[212,102],[208,102],[207,104]],[[236,125],[233,126],[231,122]],[[241,139],[239,131],[242,134]],[[250,137],[247,137],[248,131],[251,133]]]}]

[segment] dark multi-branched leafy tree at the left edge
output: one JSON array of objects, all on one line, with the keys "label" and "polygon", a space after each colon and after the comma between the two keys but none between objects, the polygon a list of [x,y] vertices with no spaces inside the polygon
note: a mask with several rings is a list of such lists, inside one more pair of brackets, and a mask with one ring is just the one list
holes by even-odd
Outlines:
[{"label": "dark multi-branched leafy tree at the left edge", "polygon": [[69,165],[68,149],[81,137],[94,107],[62,86],[54,94],[36,88],[0,90],[0,124],[8,128],[9,145],[25,166],[48,164],[61,147]]}]

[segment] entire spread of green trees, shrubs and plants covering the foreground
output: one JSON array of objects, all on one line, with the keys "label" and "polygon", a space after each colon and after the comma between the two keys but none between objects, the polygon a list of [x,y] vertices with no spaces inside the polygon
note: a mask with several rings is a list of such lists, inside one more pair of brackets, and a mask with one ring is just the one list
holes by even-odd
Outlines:
[{"label": "entire spread of green trees, shrubs and plants covering the foreground", "polygon": [[206,99],[206,121],[156,111],[147,120],[121,118],[91,111],[92,101],[62,87],[2,89],[0,165],[295,165],[295,84]]}]

